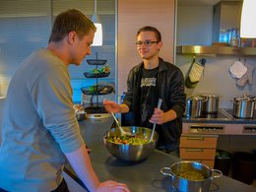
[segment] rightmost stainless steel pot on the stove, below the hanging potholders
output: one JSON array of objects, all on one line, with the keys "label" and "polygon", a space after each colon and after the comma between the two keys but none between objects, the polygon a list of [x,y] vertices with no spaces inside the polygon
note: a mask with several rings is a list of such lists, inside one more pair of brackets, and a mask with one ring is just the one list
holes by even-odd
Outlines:
[{"label": "rightmost stainless steel pot on the stove, below the hanging potholders", "polygon": [[241,96],[233,98],[232,115],[236,118],[253,118],[256,96]]}]

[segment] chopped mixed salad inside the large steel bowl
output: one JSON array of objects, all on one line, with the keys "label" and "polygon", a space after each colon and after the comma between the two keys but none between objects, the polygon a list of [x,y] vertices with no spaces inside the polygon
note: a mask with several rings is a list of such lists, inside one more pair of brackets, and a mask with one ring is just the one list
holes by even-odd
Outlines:
[{"label": "chopped mixed salad inside the large steel bowl", "polygon": [[149,142],[148,139],[138,138],[136,136],[111,136],[106,138],[107,141],[114,144],[125,144],[125,145],[142,145]]}]

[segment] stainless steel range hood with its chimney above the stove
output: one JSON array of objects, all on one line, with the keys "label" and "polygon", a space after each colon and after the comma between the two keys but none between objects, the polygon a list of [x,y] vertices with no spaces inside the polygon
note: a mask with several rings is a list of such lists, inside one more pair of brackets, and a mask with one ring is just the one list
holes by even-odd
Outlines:
[{"label": "stainless steel range hood with its chimney above the stove", "polygon": [[[232,47],[222,43],[222,32],[239,29],[242,1],[220,1],[214,5],[212,46],[178,45],[177,54],[256,55],[256,47]],[[220,43],[221,42],[221,43]]]}]

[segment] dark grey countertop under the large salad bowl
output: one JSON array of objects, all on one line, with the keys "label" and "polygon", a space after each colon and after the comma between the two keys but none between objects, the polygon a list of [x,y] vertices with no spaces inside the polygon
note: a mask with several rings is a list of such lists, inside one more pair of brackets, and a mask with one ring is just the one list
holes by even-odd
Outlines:
[{"label": "dark grey countertop under the large salad bowl", "polygon": [[[136,163],[113,158],[105,149],[102,139],[103,133],[111,127],[112,122],[111,117],[80,121],[81,133],[87,145],[93,150],[90,156],[99,180],[112,179],[124,182],[131,189],[131,192],[175,191],[172,188],[170,177],[162,175],[160,168],[171,166],[173,162],[179,159],[158,150],[151,154],[147,160]],[[81,183],[69,165],[64,170]],[[210,188],[213,191],[224,192],[230,191],[230,189],[246,192],[255,191],[252,186],[226,176],[214,178]]]}]

